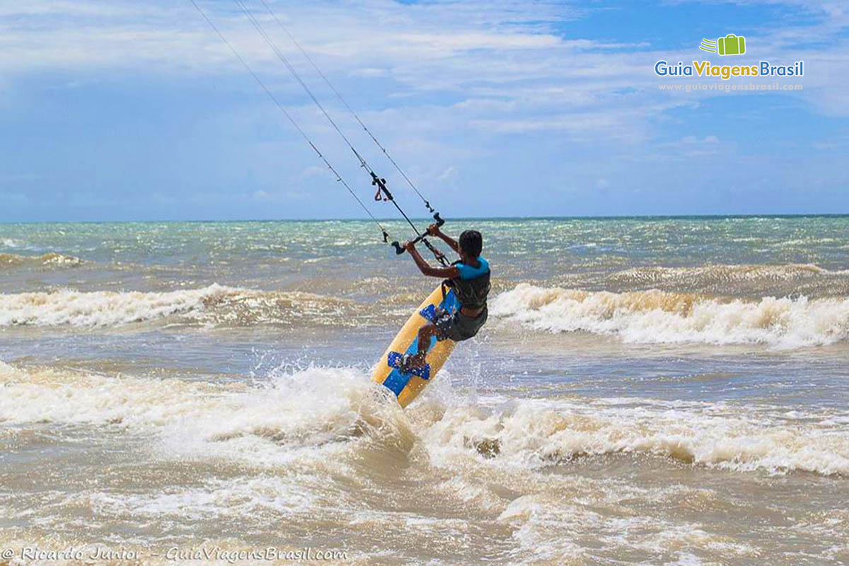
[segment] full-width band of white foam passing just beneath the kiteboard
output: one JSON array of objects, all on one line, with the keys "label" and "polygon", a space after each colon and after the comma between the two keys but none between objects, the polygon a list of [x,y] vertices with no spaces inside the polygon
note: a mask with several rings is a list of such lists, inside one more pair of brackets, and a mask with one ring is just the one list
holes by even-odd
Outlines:
[{"label": "full-width band of white foam passing just beneath the kiteboard", "polygon": [[[163,457],[309,468],[363,442],[402,453],[420,443],[437,466],[536,469],[626,453],[739,472],[849,474],[846,412],[810,412],[800,422],[783,412],[717,403],[516,400],[490,406],[482,400],[445,406],[427,392],[405,412],[380,396],[382,389],[365,373],[323,367],[248,386],[0,364],[0,385],[2,423],[119,427],[158,439]],[[335,465],[343,464],[337,458]],[[491,495],[464,493],[487,504]]]}]

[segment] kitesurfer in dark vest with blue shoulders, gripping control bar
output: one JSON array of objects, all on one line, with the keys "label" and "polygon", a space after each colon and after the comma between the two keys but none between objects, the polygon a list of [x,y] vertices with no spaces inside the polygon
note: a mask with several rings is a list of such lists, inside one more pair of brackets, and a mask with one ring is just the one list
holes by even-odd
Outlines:
[{"label": "kitesurfer in dark vest with blue shoulders, gripping control bar", "polygon": [[435,322],[428,322],[419,328],[419,352],[413,356],[404,356],[402,369],[408,370],[424,367],[424,356],[430,345],[430,339],[452,339],[455,342],[468,340],[478,333],[486,322],[486,295],[490,289],[489,263],[481,257],[483,238],[477,230],[466,230],[460,234],[459,242],[441,233],[436,224],[431,224],[427,232],[431,236],[441,238],[451,249],[460,256],[450,267],[431,267],[419,254],[413,242],[404,244],[416,266],[428,277],[446,279],[446,284],[454,289],[454,294],[460,304],[456,312],[437,310]]}]

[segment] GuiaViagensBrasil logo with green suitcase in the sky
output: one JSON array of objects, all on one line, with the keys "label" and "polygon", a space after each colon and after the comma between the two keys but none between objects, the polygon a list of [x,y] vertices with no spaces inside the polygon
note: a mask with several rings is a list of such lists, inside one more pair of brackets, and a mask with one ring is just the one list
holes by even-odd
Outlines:
[{"label": "GuiaViagensBrasil logo with green suitcase in the sky", "polygon": [[[718,55],[743,55],[746,52],[744,36],[729,33],[727,36],[702,39],[699,45],[702,51]],[[710,61],[693,61],[691,64],[669,64],[661,59],[655,63],[657,76],[688,76],[700,78],[718,78],[728,81],[733,76],[805,76],[805,62],[792,64],[773,64],[770,61],[758,61],[757,64],[712,64]]]}]

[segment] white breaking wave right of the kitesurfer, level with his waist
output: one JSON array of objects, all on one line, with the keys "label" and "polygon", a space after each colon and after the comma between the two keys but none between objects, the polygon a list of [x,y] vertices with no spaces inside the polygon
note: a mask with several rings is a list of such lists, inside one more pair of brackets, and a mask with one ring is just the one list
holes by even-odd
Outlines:
[{"label": "white breaking wave right of the kitesurfer, level with his waist", "polygon": [[711,298],[659,290],[610,293],[521,283],[492,315],[549,332],[610,334],[631,343],[835,344],[849,337],[849,299]]}]

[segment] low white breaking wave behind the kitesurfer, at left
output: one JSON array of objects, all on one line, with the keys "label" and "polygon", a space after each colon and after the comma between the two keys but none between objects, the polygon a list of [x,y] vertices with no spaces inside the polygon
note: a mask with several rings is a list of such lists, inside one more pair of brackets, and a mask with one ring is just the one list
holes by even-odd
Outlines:
[{"label": "low white breaking wave behind the kitesurfer, at left", "polygon": [[[63,289],[0,294],[0,326],[114,327],[168,319],[185,324],[346,324],[367,317],[352,301],[301,292],[258,291],[212,284],[164,293]],[[353,317],[353,315],[357,317]]]}]

